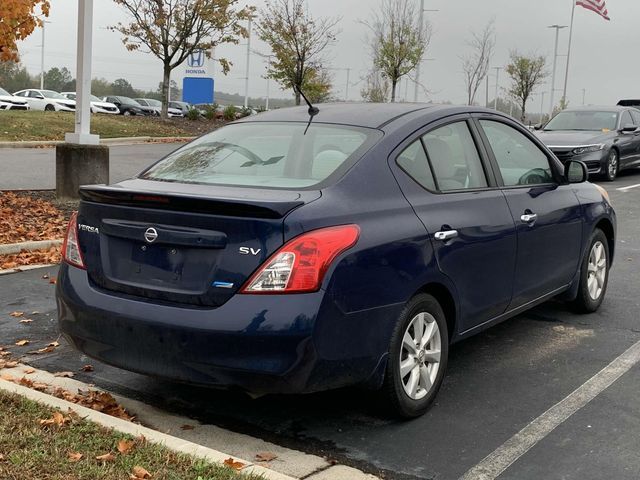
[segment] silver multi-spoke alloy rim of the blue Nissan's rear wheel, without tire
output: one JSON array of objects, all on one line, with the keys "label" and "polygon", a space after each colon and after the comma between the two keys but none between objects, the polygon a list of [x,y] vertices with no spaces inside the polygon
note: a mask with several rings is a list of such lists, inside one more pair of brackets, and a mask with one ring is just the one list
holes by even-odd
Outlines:
[{"label": "silver multi-spoke alloy rim of the blue Nissan's rear wheel, without tire", "polygon": [[424,398],[440,368],[440,328],[427,312],[418,313],[405,330],[400,349],[400,378],[405,393],[413,400]]}]

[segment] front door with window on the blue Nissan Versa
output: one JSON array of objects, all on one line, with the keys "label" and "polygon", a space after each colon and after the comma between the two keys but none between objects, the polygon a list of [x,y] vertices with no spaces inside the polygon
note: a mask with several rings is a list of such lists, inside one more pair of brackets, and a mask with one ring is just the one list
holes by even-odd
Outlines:
[{"label": "front door with window on the blue Nissan Versa", "polygon": [[494,171],[518,234],[510,308],[560,291],[580,261],[582,213],[572,185],[524,128],[499,117],[479,118]]}]

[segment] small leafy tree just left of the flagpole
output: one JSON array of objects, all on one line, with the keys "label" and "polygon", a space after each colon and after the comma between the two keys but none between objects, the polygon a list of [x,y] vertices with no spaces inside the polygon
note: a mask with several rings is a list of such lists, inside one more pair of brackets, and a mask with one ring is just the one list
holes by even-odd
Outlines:
[{"label": "small leafy tree just left of the flagpole", "polygon": [[536,87],[544,83],[548,72],[545,70],[546,59],[543,56],[531,54],[528,57],[520,55],[516,50],[511,52],[511,63],[506,71],[511,77],[509,94],[520,102],[521,117],[524,122],[527,100]]}]

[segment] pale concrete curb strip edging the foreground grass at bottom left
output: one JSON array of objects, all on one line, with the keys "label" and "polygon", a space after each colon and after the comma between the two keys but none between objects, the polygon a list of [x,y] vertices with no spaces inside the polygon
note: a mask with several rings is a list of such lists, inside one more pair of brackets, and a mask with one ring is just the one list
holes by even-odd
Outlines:
[{"label": "pale concrete curb strip edging the foreground grass at bottom left", "polygon": [[[202,445],[182,440],[180,438],[176,438],[171,435],[167,435],[165,433],[161,433],[156,430],[152,430],[150,428],[128,422],[126,420],[111,417],[90,408],[67,402],[66,400],[62,400],[51,395],[47,395],[46,393],[38,392],[37,390],[32,390],[22,385],[17,385],[13,382],[8,382],[6,380],[0,379],[0,390],[22,395],[23,397],[26,397],[30,400],[47,405],[49,407],[57,408],[63,412],[71,409],[86,420],[102,425],[103,427],[112,428],[119,432],[132,435],[134,437],[143,435],[150,442],[164,445],[165,447],[175,452],[193,455],[195,457],[203,458],[210,462],[220,464],[222,464],[225,459],[230,457],[230,455],[219,452],[217,450],[203,447]],[[296,480],[293,477],[289,477],[288,475],[283,475],[273,470],[269,470],[268,468],[260,465],[255,465],[247,460],[234,458],[234,461],[239,461],[246,465],[241,470],[241,472],[244,473],[263,475],[267,480]]]}]

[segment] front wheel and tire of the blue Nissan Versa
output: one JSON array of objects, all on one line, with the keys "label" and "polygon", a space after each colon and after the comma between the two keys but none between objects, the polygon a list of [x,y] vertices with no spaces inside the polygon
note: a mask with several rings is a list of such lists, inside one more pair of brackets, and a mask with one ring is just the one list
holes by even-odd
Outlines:
[{"label": "front wheel and tire of the blue Nissan Versa", "polygon": [[609,242],[604,232],[596,229],[580,265],[578,296],[572,303],[574,310],[592,313],[600,308],[607,292],[610,266]]}]

